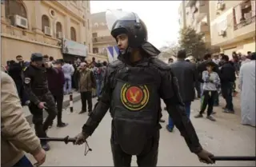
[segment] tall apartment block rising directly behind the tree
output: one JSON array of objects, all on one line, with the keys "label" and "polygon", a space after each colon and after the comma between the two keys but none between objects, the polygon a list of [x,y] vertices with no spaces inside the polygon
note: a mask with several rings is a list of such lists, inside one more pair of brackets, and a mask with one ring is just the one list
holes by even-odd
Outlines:
[{"label": "tall apartment block rising directly behind the tree", "polygon": [[219,48],[212,46],[210,38],[210,1],[186,0],[179,7],[179,18],[181,27],[190,26],[197,33],[204,34],[203,40],[206,47],[212,52],[218,52]]}]

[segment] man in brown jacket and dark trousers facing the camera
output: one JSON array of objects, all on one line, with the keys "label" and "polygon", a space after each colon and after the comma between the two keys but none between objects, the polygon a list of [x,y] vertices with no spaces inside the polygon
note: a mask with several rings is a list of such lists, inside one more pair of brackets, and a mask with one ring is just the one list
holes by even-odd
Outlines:
[{"label": "man in brown jacket and dark trousers facing the camera", "polygon": [[93,71],[87,69],[85,62],[80,64],[80,78],[78,82],[78,91],[81,94],[82,110],[80,113],[86,113],[86,103],[88,104],[88,114],[92,112],[92,89],[96,87],[96,80]]}]

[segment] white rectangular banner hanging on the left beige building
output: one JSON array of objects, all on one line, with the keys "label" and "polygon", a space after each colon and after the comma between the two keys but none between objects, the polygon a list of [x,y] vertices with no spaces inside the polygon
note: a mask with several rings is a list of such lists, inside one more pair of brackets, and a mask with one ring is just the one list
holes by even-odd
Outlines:
[{"label": "white rectangular banner hanging on the left beige building", "polygon": [[63,38],[62,40],[62,54],[73,54],[78,56],[87,56],[87,46]]}]

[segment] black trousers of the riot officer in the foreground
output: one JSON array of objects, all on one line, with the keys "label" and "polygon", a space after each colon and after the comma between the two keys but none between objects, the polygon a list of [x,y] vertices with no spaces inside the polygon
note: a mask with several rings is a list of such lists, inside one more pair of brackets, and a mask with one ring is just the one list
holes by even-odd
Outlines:
[{"label": "black trousers of the riot officer in the foreground", "polygon": [[[113,133],[112,133],[113,136]],[[156,167],[158,163],[158,145],[159,145],[159,130],[153,137],[148,139],[145,149],[137,156],[138,167]],[[114,167],[130,167],[131,157],[122,151],[114,137],[111,137],[111,149],[114,161]]]}]

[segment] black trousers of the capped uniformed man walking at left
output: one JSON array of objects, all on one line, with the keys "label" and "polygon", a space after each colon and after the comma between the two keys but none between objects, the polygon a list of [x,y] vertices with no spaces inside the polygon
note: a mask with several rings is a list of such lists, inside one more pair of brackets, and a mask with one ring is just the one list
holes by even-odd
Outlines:
[{"label": "black trousers of the capped uniformed man walking at left", "polygon": [[42,109],[38,108],[38,105],[30,102],[29,109],[30,113],[33,115],[32,121],[34,123],[35,133],[38,137],[46,137],[46,130],[51,125],[51,122],[54,120],[57,114],[57,108],[54,102],[54,97],[50,92],[38,96],[40,101],[46,102],[46,112],[48,116],[46,117],[46,121],[43,122],[43,112]]}]

